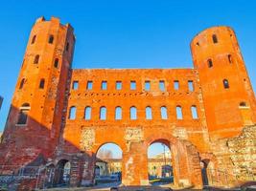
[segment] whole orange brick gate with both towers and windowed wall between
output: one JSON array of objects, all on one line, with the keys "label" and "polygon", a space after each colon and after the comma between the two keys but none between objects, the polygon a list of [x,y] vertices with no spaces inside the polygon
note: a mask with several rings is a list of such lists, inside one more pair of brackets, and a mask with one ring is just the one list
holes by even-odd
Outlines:
[{"label": "whole orange brick gate with both towers and windowed wall between", "polygon": [[229,153],[235,162],[223,162],[234,141],[221,147],[222,157],[217,149],[219,141],[237,138],[256,123],[255,96],[230,28],[198,33],[191,42],[193,69],[72,69],[74,47],[69,24],[54,17],[36,20],[0,164],[58,167],[70,161],[71,184],[86,185],[93,183],[98,149],[112,142],[123,151],[123,183],[144,185],[148,148],[160,141],[171,148],[175,185],[199,188],[201,162],[216,175],[220,166],[227,169],[239,160]]}]

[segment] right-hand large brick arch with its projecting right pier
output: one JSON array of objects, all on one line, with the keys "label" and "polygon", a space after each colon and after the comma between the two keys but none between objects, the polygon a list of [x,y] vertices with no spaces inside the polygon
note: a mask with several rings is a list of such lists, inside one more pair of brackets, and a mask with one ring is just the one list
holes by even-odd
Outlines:
[{"label": "right-hand large brick arch with its projecting right pier", "polygon": [[201,188],[200,159],[197,147],[189,140],[175,138],[167,132],[149,135],[145,138],[145,146],[148,148],[156,141],[169,145],[171,149],[175,186],[197,185],[197,188]]}]

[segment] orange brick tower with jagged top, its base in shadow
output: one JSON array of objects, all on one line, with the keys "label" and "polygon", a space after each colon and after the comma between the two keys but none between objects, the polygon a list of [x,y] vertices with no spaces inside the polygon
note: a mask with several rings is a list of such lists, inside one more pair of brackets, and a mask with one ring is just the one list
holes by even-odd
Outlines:
[{"label": "orange brick tower with jagged top, its base in shadow", "polygon": [[22,165],[53,154],[64,120],[74,45],[69,24],[61,25],[55,17],[36,20],[3,136],[2,154],[8,156],[0,159],[1,164]]}]

